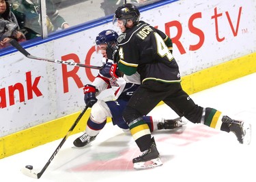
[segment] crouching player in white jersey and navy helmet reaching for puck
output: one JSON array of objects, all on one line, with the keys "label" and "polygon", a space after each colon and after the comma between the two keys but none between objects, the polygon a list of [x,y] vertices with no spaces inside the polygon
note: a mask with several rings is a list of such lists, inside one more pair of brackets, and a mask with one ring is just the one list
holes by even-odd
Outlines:
[{"label": "crouching player in white jersey and navy helmet reaching for puck", "polygon": [[[102,62],[106,65],[113,62],[112,56],[113,52],[117,49],[117,37],[117,33],[113,30],[102,31],[96,37],[96,50],[100,51],[103,56]],[[109,71],[106,72],[108,75]],[[105,74],[102,71],[100,73]],[[130,83],[127,81],[126,76],[108,78],[100,73],[92,84],[87,84],[83,89],[85,103],[91,107],[91,115],[87,120],[85,133],[73,142],[76,147],[83,147],[94,141],[100,130],[104,128],[106,117],[111,117],[113,124],[119,126],[119,128],[124,130],[128,130],[129,128],[126,122],[124,122],[122,111],[132,96],[132,93],[139,87],[140,81]],[[139,74],[133,77],[133,81],[137,77],[139,77]],[[108,88],[113,90],[113,100],[106,102],[98,100],[96,96]],[[180,128],[180,126],[186,124],[180,117],[175,120],[165,120],[161,117],[144,116],[143,120],[150,127],[151,132],[154,130]]]}]

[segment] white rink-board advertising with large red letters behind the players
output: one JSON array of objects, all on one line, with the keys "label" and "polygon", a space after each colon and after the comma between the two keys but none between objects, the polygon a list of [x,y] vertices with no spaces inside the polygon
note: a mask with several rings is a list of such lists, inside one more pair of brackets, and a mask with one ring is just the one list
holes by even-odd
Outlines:
[{"label": "white rink-board advertising with large red letters behind the players", "polygon": [[[256,51],[255,1],[175,1],[141,12],[141,20],[173,40],[182,76]],[[101,66],[94,40],[112,23],[27,49],[42,58]],[[83,86],[98,70],[26,58],[20,52],[0,58],[0,137],[80,111]],[[110,98],[106,91],[101,98]]]}]

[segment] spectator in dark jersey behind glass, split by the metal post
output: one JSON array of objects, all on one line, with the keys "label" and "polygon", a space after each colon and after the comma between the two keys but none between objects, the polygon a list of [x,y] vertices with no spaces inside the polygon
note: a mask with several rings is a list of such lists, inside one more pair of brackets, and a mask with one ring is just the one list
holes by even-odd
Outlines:
[{"label": "spectator in dark jersey behind glass, split by the metal post", "polygon": [[[12,12],[14,12],[20,29],[27,39],[42,35],[38,0],[16,0],[12,3]],[[68,22],[59,15],[55,4],[51,0],[46,0],[46,15],[48,33],[69,27]]]}]

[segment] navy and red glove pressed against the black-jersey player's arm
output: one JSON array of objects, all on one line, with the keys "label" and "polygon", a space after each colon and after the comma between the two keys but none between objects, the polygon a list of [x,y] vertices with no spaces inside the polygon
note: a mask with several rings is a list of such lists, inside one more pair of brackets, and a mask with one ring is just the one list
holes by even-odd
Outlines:
[{"label": "navy and red glove pressed against the black-jersey player's arm", "polygon": [[117,68],[117,64],[113,64],[111,62],[106,62],[106,64],[100,69],[100,74],[104,77],[121,77],[121,73]]}]

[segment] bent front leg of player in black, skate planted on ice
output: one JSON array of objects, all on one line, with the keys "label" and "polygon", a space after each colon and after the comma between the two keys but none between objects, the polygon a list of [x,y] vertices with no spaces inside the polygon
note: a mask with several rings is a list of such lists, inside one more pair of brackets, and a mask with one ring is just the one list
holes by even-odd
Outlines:
[{"label": "bent front leg of player in black, skate planted on ice", "polygon": [[143,152],[141,156],[132,160],[134,168],[152,168],[162,165],[156,143],[151,136],[150,127],[143,120],[143,115],[147,115],[154,109],[166,97],[166,92],[165,84],[146,81],[134,92],[124,109],[124,120],[130,128],[134,141]]}]

